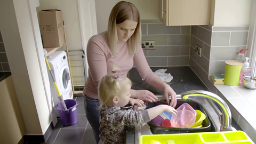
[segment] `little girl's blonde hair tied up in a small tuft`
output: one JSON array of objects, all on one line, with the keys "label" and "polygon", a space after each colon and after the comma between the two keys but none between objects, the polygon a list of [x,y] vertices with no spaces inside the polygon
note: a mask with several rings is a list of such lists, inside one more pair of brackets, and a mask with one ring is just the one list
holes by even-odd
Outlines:
[{"label": "little girl's blonde hair tied up in a small tuft", "polygon": [[114,67],[112,72],[102,77],[98,86],[98,95],[100,106],[98,109],[107,106],[113,97],[118,97],[123,91],[124,86],[127,84],[132,85],[129,78],[116,74],[117,68]]}]

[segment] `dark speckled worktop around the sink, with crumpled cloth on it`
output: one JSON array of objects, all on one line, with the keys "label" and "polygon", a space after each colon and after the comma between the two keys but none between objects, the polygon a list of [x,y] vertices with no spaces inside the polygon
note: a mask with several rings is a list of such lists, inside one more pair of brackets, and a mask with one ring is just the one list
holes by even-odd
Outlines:
[{"label": "dark speckled worktop around the sink, with crumpled cloth on it", "polygon": [[[151,67],[153,71],[158,69],[167,69],[165,73],[171,73],[173,79],[169,84],[172,89],[177,93],[181,94],[185,91],[191,90],[204,90],[209,91],[203,82],[197,77],[193,70],[187,67]],[[132,89],[134,90],[149,90],[154,94],[164,94],[163,91],[155,89],[155,87],[150,86],[146,82],[141,80],[139,72],[136,68],[132,68],[128,72],[128,76],[133,82]],[[237,130],[242,130],[239,125],[232,119],[233,127]],[[135,128],[134,126],[126,126],[126,143],[134,144],[135,143]]]}]

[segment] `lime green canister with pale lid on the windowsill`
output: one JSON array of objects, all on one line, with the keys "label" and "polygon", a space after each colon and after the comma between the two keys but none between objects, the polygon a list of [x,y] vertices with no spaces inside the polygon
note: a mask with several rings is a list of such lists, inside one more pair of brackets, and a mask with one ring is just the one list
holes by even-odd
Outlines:
[{"label": "lime green canister with pale lid on the windowsill", "polygon": [[225,75],[224,75],[224,84],[229,86],[239,85],[239,76],[241,68],[243,66],[242,62],[235,60],[225,61]]}]

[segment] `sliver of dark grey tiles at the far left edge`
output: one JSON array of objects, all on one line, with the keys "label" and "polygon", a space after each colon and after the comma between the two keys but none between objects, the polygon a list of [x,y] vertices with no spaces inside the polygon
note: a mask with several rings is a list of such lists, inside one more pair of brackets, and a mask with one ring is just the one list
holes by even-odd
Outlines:
[{"label": "sliver of dark grey tiles at the far left edge", "polygon": [[11,70],[9,67],[7,55],[5,53],[2,33],[0,33],[0,72],[3,72],[3,71],[11,71]]}]

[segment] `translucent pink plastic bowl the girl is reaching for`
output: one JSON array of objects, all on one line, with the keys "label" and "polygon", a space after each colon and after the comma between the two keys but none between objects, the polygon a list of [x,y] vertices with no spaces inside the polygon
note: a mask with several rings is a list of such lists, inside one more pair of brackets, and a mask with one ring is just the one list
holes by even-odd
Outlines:
[{"label": "translucent pink plastic bowl the girl is reaching for", "polygon": [[171,118],[171,127],[188,128],[196,121],[196,116],[190,110],[179,110],[177,116]]}]

